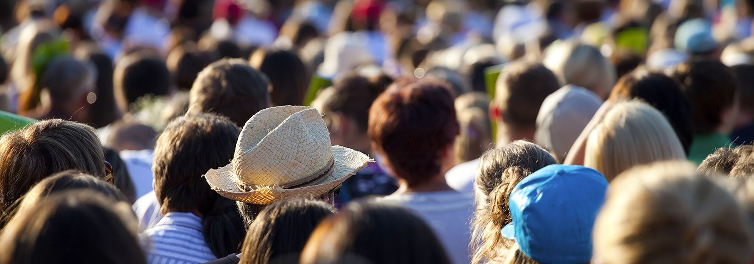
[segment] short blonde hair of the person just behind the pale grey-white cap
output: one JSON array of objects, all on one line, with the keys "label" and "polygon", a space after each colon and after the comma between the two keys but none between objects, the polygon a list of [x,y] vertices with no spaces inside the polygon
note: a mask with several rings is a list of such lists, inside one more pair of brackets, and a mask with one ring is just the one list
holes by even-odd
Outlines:
[{"label": "short blonde hair of the person just behind the pale grey-white cap", "polygon": [[558,76],[562,85],[585,87],[603,100],[610,94],[617,78],[615,66],[599,50],[578,41],[552,45],[545,52],[544,66]]}]

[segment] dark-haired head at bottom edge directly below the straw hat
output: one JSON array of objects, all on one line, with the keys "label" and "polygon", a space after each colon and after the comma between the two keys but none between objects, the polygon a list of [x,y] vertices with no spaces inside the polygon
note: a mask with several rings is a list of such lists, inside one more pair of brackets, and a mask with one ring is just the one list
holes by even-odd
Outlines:
[{"label": "dark-haired head at bottom edge directly below the straw hat", "polygon": [[300,198],[269,204],[249,227],[241,263],[298,262],[311,232],[333,210],[323,201]]}]

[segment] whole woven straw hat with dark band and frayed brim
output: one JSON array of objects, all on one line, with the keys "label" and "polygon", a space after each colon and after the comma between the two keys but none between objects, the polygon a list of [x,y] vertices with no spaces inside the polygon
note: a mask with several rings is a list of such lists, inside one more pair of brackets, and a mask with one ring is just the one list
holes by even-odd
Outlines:
[{"label": "whole woven straw hat with dark band and frayed brim", "polygon": [[372,161],[353,149],[331,146],[317,109],[277,106],[252,116],[241,130],[231,164],[204,177],[225,198],[269,204],[323,195]]}]

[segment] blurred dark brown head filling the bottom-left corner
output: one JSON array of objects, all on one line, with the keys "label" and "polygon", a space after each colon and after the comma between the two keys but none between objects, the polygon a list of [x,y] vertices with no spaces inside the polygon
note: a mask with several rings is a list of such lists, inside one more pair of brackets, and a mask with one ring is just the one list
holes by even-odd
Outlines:
[{"label": "blurred dark brown head filling the bottom-left corner", "polygon": [[146,263],[130,204],[97,192],[51,195],[0,236],[0,263]]}]

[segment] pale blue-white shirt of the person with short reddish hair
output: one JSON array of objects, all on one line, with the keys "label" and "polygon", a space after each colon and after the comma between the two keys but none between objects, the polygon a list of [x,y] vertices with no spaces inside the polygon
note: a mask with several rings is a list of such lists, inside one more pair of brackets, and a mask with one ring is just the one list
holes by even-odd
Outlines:
[{"label": "pale blue-white shirt of the person with short reddish hair", "polygon": [[469,244],[474,195],[455,191],[415,192],[388,195],[378,201],[395,202],[414,211],[425,219],[453,263],[471,262]]}]

